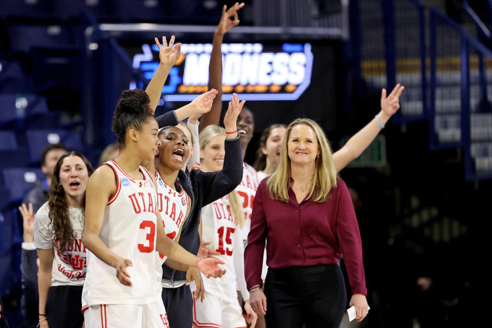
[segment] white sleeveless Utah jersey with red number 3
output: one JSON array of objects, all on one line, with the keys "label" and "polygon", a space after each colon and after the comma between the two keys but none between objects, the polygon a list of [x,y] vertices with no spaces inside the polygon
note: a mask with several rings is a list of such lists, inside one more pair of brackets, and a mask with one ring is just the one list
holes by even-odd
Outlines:
[{"label": "white sleeveless Utah jersey with red number 3", "polygon": [[116,269],[87,251],[82,297],[88,305],[161,301],[160,280],[156,277],[160,266],[155,260],[157,196],[153,178],[141,166],[144,179],[134,180],[114,160],[104,165],[113,169],[117,183],[104,213],[99,238],[112,252],[132,261],[133,266],[127,267],[132,286],[121,284]]}]

